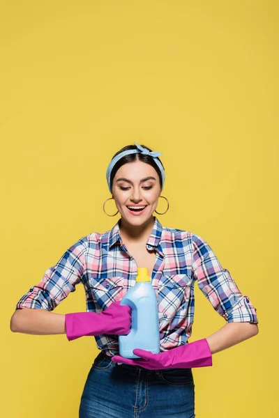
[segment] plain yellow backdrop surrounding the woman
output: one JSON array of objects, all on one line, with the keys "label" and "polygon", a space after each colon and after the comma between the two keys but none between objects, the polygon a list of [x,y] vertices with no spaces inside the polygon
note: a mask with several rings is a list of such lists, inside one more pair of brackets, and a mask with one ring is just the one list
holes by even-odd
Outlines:
[{"label": "plain yellow backdrop surrounding the woman", "polygon": [[[278,2],[12,0],[0,12],[1,416],[78,416],[93,337],[12,333],[10,316],[70,245],[119,219],[103,212],[105,171],[137,141],[162,153],[160,222],[207,240],[257,308],[257,336],[193,369],[197,418],[277,417]],[[191,341],[225,325],[195,295]],[[82,286],[55,311],[79,310]]]}]

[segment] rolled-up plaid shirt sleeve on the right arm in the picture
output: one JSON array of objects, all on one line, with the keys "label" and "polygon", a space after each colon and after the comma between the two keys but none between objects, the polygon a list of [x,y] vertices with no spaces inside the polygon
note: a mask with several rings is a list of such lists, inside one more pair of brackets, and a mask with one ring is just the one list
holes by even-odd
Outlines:
[{"label": "rolled-up plaid shirt sleeve on the right arm in the picture", "polygon": [[222,268],[209,244],[193,234],[193,277],[213,308],[227,323],[258,323],[257,309],[243,295],[229,270]]}]

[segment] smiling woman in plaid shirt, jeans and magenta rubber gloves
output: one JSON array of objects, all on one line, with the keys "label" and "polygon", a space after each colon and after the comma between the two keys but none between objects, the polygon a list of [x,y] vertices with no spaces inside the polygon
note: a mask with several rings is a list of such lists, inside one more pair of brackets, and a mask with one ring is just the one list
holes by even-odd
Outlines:
[{"label": "smiling woman in plaid shirt, jeans and magenta rubber gloves", "polygon": [[[159,155],[136,143],[114,155],[107,184],[117,212],[107,215],[119,212],[119,221],[110,231],[90,233],[72,245],[17,302],[11,319],[14,332],[64,333],[69,341],[95,336],[101,352],[84,385],[82,418],[195,417],[192,368],[212,366],[214,353],[258,332],[255,307],[209,244],[194,233],[166,228],[153,217],[159,197],[167,201],[161,196],[165,170]],[[140,267],[148,268],[158,296],[160,353],[136,349],[139,359],[125,359],[119,356],[118,335],[130,332],[131,311],[120,301],[135,284]],[[188,343],[196,280],[227,323],[211,336]],[[86,312],[50,312],[80,282]]]}]

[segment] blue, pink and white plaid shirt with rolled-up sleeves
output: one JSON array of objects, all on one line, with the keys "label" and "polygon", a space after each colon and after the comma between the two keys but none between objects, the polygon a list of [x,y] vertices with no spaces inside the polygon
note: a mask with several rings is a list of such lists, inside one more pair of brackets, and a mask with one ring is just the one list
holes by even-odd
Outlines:
[{"label": "blue, pink and white plaid shirt with rolled-up sleeves", "polygon": [[[146,249],[156,251],[151,283],[158,299],[160,350],[187,343],[194,318],[194,285],[227,323],[258,323],[256,309],[242,295],[229,271],[223,269],[209,244],[198,235],[162,226],[156,217]],[[39,284],[17,302],[52,311],[82,283],[86,311],[99,313],[121,300],[135,284],[137,263],[119,233],[121,218],[110,231],[80,238],[49,268]],[[117,335],[94,336],[107,355],[119,354]]]}]

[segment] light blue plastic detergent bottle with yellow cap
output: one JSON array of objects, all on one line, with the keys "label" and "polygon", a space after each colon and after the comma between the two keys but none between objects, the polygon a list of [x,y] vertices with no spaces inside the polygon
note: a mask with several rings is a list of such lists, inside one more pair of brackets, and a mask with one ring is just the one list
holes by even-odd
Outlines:
[{"label": "light blue plastic detergent bottle with yellow cap", "polygon": [[158,302],[147,268],[138,268],[136,283],[121,300],[132,309],[132,327],[127,335],[119,335],[119,354],[138,359],[135,348],[160,353]]}]

